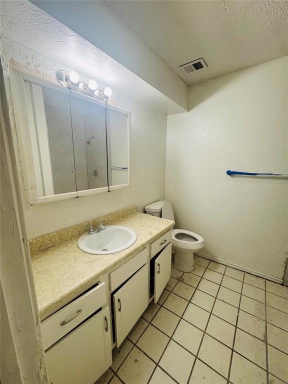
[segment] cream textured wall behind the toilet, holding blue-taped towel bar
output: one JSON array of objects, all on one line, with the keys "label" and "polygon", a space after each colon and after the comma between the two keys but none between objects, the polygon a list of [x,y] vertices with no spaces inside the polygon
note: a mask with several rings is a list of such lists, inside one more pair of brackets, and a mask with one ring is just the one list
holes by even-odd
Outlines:
[{"label": "cream textured wall behind the toilet, holding blue-taped towel bar", "polygon": [[169,115],[165,198],[179,228],[206,254],[282,278],[288,180],[225,171],[288,173],[288,57],[190,88],[190,112]]}]

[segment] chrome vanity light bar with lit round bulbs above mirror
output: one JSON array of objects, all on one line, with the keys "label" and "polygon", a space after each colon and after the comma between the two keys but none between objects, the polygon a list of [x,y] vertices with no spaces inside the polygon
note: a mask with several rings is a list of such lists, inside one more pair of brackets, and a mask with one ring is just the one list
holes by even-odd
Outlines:
[{"label": "chrome vanity light bar with lit round bulbs above mirror", "polygon": [[103,102],[107,102],[108,97],[112,94],[112,89],[110,87],[99,87],[95,80],[80,78],[78,73],[73,70],[70,72],[59,70],[56,73],[56,77],[61,85],[75,91],[85,93],[86,95]]}]

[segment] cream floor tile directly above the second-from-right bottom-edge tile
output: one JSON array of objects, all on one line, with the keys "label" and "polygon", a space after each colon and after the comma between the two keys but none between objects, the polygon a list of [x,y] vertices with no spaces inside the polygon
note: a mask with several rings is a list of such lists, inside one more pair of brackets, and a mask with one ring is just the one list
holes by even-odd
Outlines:
[{"label": "cream floor tile directly above the second-from-right bottom-edge tile", "polygon": [[266,368],[266,345],[263,341],[237,328],[234,350],[249,360]]}]

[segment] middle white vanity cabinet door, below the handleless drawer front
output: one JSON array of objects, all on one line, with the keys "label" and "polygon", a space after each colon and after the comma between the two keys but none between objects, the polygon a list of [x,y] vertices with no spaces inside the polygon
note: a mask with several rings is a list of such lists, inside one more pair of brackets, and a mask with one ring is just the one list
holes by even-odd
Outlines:
[{"label": "middle white vanity cabinet door, below the handleless drawer front", "polygon": [[113,294],[117,347],[148,305],[148,264]]}]

